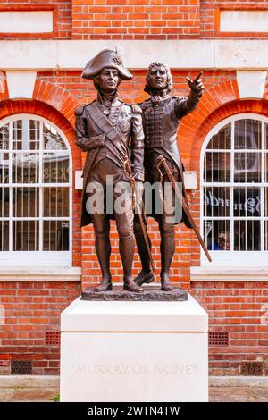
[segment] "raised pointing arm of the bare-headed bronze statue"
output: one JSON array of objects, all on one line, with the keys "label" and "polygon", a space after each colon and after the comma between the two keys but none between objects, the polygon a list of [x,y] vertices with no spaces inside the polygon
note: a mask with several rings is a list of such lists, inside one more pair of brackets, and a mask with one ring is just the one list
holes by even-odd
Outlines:
[{"label": "raised pointing arm of the bare-headed bronze statue", "polygon": [[188,77],[188,86],[190,88],[190,93],[187,97],[179,97],[177,104],[175,105],[175,113],[178,118],[182,118],[188,113],[194,111],[197,107],[197,104],[202,97],[202,92],[204,90],[204,85],[201,79],[202,71],[197,75],[195,80],[190,80]]}]

